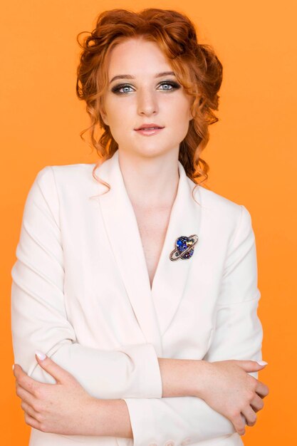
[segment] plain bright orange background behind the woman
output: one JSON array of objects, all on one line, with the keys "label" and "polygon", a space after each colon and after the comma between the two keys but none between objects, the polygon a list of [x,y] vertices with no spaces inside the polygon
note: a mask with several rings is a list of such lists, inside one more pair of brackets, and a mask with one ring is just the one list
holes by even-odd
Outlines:
[{"label": "plain bright orange background behind the woman", "polygon": [[[209,187],[251,213],[264,327],[259,379],[269,385],[265,407],[246,446],[297,445],[296,433],[296,4],[293,1],[138,1],[177,9],[214,46],[224,66],[219,122],[203,156]],[[75,96],[79,48],[105,9],[134,10],[132,1],[11,1],[2,9],[1,121],[1,444],[28,445],[14,391],[10,331],[11,267],[24,202],[46,165],[95,162],[80,140],[88,126]],[[295,115],[293,114],[295,112]],[[294,129],[294,131],[293,131]],[[295,299],[294,299],[295,298]],[[197,420],[199,422],[199,420]]]}]

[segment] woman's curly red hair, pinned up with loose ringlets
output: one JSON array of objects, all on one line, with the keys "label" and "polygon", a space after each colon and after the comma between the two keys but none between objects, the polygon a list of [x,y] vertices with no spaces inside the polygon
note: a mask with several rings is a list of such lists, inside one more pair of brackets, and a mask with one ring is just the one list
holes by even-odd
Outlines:
[{"label": "woman's curly red hair, pinned up with loose ringlets", "polygon": [[[179,161],[187,176],[196,184],[207,180],[209,165],[200,157],[209,141],[208,126],[218,121],[214,110],[218,110],[218,91],[222,84],[222,63],[211,46],[198,43],[192,21],[177,11],[168,9],[143,9],[140,12],[112,9],[98,15],[95,29],[88,32],[80,43],[82,48],[77,68],[76,94],[85,100],[91,125],[80,133],[90,130],[92,147],[98,152],[99,161],[112,157],[118,143],[103,122],[100,109],[104,108],[103,97],[108,88],[108,55],[127,38],[144,38],[158,44],[172,66],[179,83],[187,94],[192,95],[192,115],[189,130],[179,145]],[[98,138],[95,133],[103,128]],[[105,183],[107,185],[107,183]],[[109,187],[109,185],[108,185]]]}]

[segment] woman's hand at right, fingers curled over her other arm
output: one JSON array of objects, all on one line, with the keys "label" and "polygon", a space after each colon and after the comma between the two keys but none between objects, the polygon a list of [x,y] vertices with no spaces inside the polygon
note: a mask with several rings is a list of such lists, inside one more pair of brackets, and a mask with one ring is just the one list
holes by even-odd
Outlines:
[{"label": "woman's hand at right, fingers curled over her other arm", "polygon": [[264,368],[256,361],[203,361],[199,369],[197,395],[217,412],[228,418],[239,435],[256,424],[256,412],[263,409],[269,388],[247,372]]}]

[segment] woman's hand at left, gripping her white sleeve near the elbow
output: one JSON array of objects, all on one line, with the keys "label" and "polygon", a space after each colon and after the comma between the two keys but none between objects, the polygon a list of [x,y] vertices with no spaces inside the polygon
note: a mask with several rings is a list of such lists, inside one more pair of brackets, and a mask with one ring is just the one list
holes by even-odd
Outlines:
[{"label": "woman's hand at left, gripping her white sleeve near the elbow", "polygon": [[44,360],[36,356],[36,361],[55,378],[56,383],[40,383],[29,377],[21,365],[14,365],[16,395],[21,398],[26,423],[42,432],[91,435],[89,414],[94,408],[95,398],[83,389],[71,373],[48,356]]}]

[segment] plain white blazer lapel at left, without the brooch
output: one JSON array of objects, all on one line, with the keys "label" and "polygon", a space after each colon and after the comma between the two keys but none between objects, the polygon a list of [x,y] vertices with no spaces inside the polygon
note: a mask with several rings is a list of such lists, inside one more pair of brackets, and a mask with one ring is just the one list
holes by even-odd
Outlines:
[{"label": "plain white blazer lapel at left, without the brooch", "polygon": [[[140,232],[134,209],[125,189],[122,172],[118,162],[118,151],[105,160],[95,171],[101,180],[108,182],[110,190],[98,183],[99,203],[115,262],[147,343],[155,346],[162,355],[160,331],[152,302],[150,279],[147,274],[145,254],[142,249]],[[106,192],[101,194],[101,192]],[[110,279],[113,272],[108,271]]]}]

